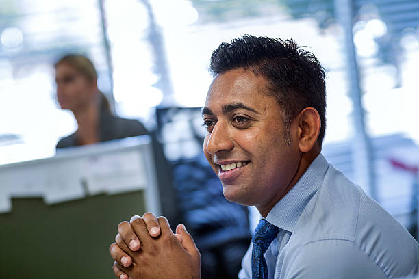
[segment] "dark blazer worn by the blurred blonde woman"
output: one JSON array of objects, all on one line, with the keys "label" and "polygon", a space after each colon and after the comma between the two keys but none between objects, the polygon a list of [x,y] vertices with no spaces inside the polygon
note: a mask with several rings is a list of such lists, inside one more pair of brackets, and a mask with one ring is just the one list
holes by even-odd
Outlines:
[{"label": "dark blazer worn by the blurred blonde woman", "polygon": [[[148,133],[147,129],[134,119],[120,118],[108,112],[102,112],[99,118],[99,142],[123,139],[124,137],[135,137],[137,135],[147,135]],[[60,139],[56,148],[79,145],[76,133],[72,133]]]}]

